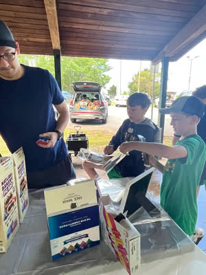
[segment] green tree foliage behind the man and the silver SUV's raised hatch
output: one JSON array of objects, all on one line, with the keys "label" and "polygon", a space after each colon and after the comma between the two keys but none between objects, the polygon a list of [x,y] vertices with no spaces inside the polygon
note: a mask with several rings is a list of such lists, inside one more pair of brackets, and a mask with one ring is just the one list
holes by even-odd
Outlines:
[{"label": "green tree foliage behind the man and the silver SUV's raised hatch", "polygon": [[[29,65],[33,60],[37,67],[48,69],[54,76],[54,56],[36,56],[22,54],[19,56],[20,63]],[[76,81],[89,80],[98,82],[105,87],[110,77],[106,74],[111,67],[108,59],[103,58],[78,58],[62,56],[62,91],[72,91],[71,83]]]}]

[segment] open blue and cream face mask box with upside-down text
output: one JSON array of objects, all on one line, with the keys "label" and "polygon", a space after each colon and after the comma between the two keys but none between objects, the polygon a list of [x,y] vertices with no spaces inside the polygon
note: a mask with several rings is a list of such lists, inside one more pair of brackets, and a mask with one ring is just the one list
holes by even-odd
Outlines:
[{"label": "open blue and cream face mask box with upside-down text", "polygon": [[45,190],[52,260],[100,244],[99,206],[94,180]]}]

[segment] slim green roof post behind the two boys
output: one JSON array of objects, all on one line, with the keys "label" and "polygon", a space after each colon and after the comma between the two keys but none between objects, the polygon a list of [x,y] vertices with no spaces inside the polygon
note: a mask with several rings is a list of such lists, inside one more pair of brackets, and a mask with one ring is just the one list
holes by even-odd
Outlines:
[{"label": "slim green roof post behind the two boys", "polygon": [[[167,87],[168,87],[168,67],[169,67],[169,58],[165,58],[165,56],[163,55],[161,58],[161,85],[160,85],[160,93],[159,93],[159,109],[165,108]],[[161,127],[161,143],[163,143],[165,115],[162,115],[161,113],[159,113],[159,116],[158,116],[158,126]]]}]

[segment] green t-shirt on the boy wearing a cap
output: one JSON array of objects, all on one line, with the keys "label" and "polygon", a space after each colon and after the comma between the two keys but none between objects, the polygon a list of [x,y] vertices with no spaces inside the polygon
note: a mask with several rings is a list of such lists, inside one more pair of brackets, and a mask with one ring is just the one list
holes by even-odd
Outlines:
[{"label": "green t-shirt on the boy wearing a cap", "polygon": [[191,236],[196,227],[196,189],[205,165],[205,142],[190,135],[176,142],[187,149],[187,157],[168,159],[161,184],[161,206],[182,230]]}]

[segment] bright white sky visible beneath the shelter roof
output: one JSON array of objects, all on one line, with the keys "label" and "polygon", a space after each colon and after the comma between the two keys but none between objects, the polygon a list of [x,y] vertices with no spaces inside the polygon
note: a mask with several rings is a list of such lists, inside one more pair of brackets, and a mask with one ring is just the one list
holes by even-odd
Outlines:
[{"label": "bright white sky visible beneath the shelter roof", "polygon": [[[181,91],[187,91],[189,88],[190,78],[190,64],[192,60],[192,71],[190,78],[190,90],[193,91],[197,87],[206,84],[206,39],[196,45],[190,52],[187,52],[176,62],[170,62],[168,72],[168,91],[176,91],[177,94]],[[198,57],[196,57],[198,56]],[[195,58],[196,57],[196,58]],[[109,89],[112,85],[117,86],[117,93],[120,91],[120,65],[121,61],[117,59],[110,59],[109,65],[113,67],[108,75],[111,80],[106,85]],[[132,81],[134,74],[137,74],[140,68],[140,61],[126,61],[122,60],[121,73],[121,91],[128,91],[128,83]],[[150,61],[141,61],[141,71],[143,69],[150,69]]]}]

